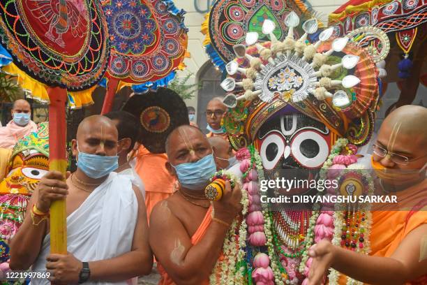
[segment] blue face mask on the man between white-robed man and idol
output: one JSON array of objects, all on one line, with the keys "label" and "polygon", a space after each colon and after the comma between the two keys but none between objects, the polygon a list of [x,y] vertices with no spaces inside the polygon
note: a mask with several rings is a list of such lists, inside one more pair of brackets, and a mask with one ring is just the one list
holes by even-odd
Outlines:
[{"label": "blue face mask on the man between white-robed man and idol", "polygon": [[[172,164],[171,164],[172,165]],[[177,171],[179,183],[190,190],[202,190],[216,172],[213,155],[209,154],[196,162],[172,166]]]}]

